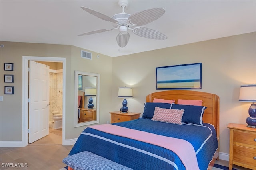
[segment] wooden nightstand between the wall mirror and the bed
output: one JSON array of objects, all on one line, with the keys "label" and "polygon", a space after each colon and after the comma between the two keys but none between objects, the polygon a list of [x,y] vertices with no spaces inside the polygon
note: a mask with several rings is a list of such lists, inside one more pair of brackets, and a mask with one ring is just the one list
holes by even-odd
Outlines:
[{"label": "wooden nightstand between the wall mirror and the bed", "polygon": [[111,123],[134,120],[140,117],[140,113],[120,113],[120,111],[113,111],[109,113],[111,114]]}]

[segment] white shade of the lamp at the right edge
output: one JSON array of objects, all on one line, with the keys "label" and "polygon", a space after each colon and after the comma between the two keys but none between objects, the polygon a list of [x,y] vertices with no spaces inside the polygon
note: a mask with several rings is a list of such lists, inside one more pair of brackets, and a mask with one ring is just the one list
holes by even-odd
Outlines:
[{"label": "white shade of the lamp at the right edge", "polygon": [[239,101],[256,102],[256,84],[241,85]]}]

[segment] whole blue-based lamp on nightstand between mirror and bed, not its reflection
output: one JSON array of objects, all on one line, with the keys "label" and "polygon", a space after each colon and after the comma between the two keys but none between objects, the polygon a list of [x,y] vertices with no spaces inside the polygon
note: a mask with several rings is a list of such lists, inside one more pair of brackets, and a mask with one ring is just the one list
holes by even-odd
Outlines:
[{"label": "whole blue-based lamp on nightstand between mirror and bed, not its reflection", "polygon": [[118,97],[124,98],[123,107],[121,107],[121,113],[128,113],[127,100],[126,98],[132,97],[132,88],[131,87],[120,87],[118,88]]}]

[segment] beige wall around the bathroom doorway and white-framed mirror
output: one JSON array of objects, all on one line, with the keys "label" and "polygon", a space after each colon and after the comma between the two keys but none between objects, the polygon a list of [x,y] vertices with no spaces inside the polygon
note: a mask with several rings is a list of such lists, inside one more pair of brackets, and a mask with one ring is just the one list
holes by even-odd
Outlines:
[{"label": "beige wall around the bathroom doorway and white-framed mirror", "polygon": [[[84,127],[74,128],[74,71],[96,72],[100,74],[100,100],[102,111],[100,123],[106,123],[110,111],[112,57],[92,52],[92,60],[80,57],[81,48],[71,45],[53,45],[38,43],[1,42],[0,48],[0,141],[22,140],[22,56],[63,57],[66,58],[66,139],[78,137]],[[84,49],[83,49],[84,50]],[[90,51],[89,51],[90,52]],[[100,57],[97,58],[96,56]],[[14,63],[14,71],[4,71],[4,63]],[[56,69],[62,66],[56,65]],[[14,83],[4,83],[4,74],[14,74]],[[14,94],[4,94],[4,86],[14,86]],[[104,91],[104,88],[108,89]],[[110,89],[110,90],[109,90]],[[10,135],[11,134],[11,135]]]}]

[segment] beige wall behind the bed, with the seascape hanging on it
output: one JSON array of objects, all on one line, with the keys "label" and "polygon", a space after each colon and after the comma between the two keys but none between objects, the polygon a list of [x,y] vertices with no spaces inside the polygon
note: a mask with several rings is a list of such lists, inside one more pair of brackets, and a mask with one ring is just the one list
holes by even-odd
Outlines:
[{"label": "beige wall behind the bed, with the seascape hanging on it", "polygon": [[133,88],[129,111],[143,113],[146,95],[157,92],[156,67],[202,63],[202,89],[220,97],[220,152],[229,153],[228,123],[246,124],[250,103],[238,102],[240,85],[256,83],[256,33],[114,57],[113,111],[122,106],[118,87]]}]

